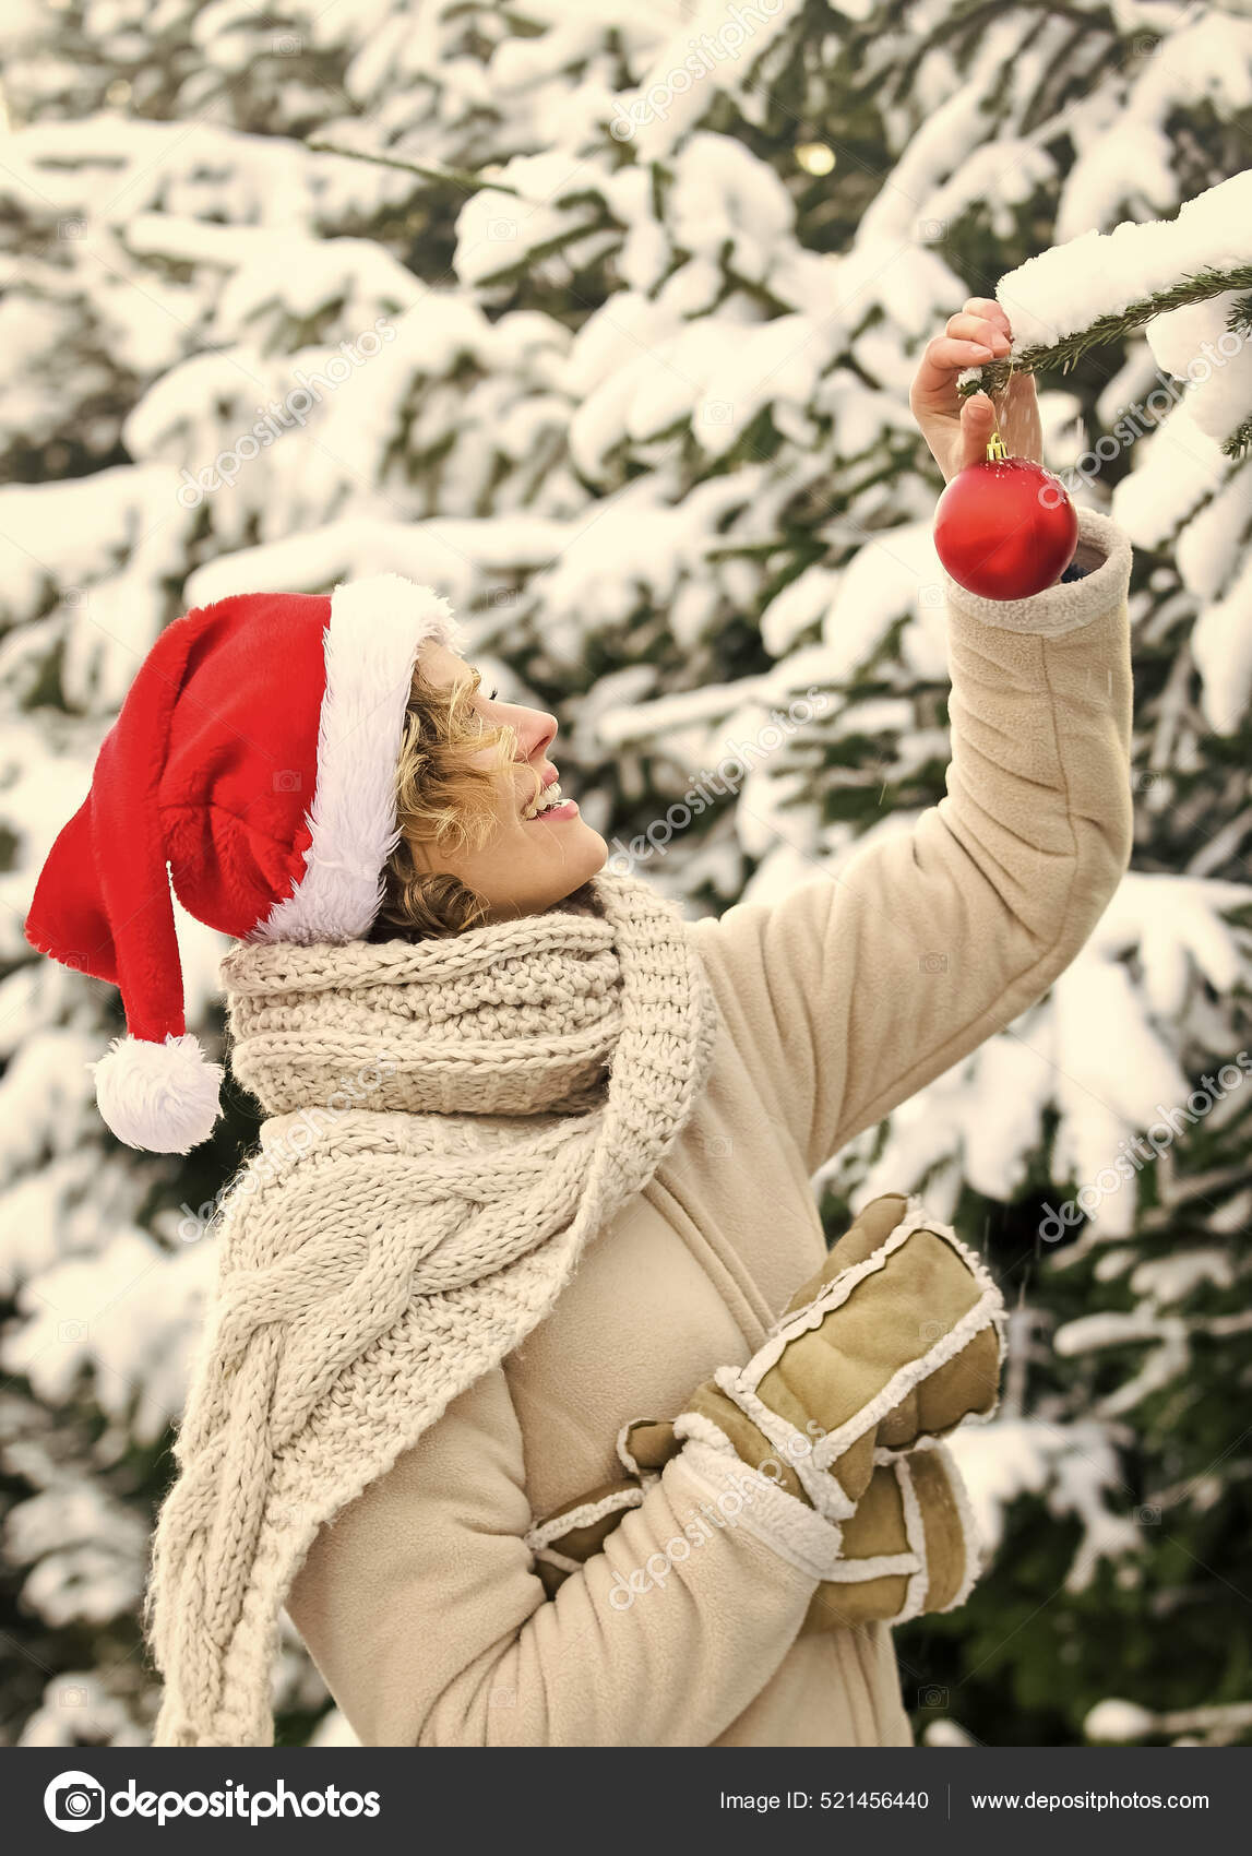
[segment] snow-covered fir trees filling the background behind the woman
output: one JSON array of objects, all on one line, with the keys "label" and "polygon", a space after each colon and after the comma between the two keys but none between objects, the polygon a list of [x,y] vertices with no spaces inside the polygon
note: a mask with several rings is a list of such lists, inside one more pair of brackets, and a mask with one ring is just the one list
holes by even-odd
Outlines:
[{"label": "snow-covered fir trees filling the background behind the woman", "polygon": [[[189,1162],[111,1143],[85,1063],[117,999],[22,917],[145,650],[191,603],[390,568],[558,713],[569,791],[692,913],[907,828],[946,761],[920,347],[1245,173],[1252,9],[7,0],[0,59],[0,1741],[143,1745],[195,1212],[256,1115],[236,1091]],[[1052,284],[1072,327],[1128,301],[1089,262]],[[831,1229],[922,1188],[1016,1310],[961,1451],[992,1570],[898,1639],[931,1741],[1252,1737],[1252,1088],[1107,1173],[1252,1041],[1246,356],[1148,406],[1206,329],[1042,377],[1048,460],[1104,438],[1076,496],[1137,544],[1133,870],[1048,1000],[818,1182]],[[213,1041],[223,948],[184,926]],[[295,1644],[278,1709],[345,1732]]]}]

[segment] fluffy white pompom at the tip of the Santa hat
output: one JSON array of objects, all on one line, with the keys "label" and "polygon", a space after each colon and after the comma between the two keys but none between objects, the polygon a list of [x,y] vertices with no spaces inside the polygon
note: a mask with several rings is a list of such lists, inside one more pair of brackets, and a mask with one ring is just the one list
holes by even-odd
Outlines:
[{"label": "fluffy white pompom at the tip of the Santa hat", "polygon": [[185,1154],[213,1132],[223,1067],[210,1063],[191,1032],[165,1043],[115,1038],[108,1056],[87,1069],[106,1125],[128,1147]]}]

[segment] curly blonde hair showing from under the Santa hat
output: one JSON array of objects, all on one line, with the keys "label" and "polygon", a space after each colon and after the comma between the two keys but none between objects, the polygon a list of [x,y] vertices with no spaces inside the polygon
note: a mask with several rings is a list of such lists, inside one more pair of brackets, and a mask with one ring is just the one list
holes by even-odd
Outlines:
[{"label": "curly blonde hair showing from under the Santa hat", "polygon": [[[497,828],[501,787],[517,757],[517,735],[490,726],[473,707],[482,687],[469,670],[443,689],[427,683],[419,668],[404,713],[395,767],[395,811],[401,837],[384,867],[384,896],[371,939],[454,935],[486,919],[486,900],[449,870],[419,869],[440,854],[480,850]],[[492,757],[484,765],[484,750]],[[530,768],[534,796],[543,781]]]}]

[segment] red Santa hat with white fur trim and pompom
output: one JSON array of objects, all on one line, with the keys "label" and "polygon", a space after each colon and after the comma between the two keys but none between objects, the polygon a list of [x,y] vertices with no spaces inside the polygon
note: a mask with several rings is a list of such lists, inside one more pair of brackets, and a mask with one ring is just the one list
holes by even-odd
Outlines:
[{"label": "red Santa hat with white fur trim and pompom", "polygon": [[128,1036],[91,1069],[130,1147],[189,1153],[219,1115],[221,1065],[185,1028],[171,882],[236,939],[365,935],[427,638],[462,650],[447,601],[378,574],[219,599],[143,661],[26,917],[41,954],[121,987]]}]

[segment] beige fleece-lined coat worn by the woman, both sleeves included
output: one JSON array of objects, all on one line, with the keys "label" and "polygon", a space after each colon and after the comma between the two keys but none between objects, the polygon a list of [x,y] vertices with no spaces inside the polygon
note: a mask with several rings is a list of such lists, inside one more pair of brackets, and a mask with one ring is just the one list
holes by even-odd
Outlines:
[{"label": "beige fleece-lined coat worn by the woman, both sleeves included", "polygon": [[816,1581],[744,1526],[666,1555],[709,1507],[684,1459],[555,1598],[525,1535],[620,1474],[623,1424],[751,1357],[825,1251],[811,1175],[1037,1000],[1113,895],[1130,546],[1083,512],[1078,561],[1013,605],[948,585],[948,796],[838,878],[696,924],[722,1025],[677,1145],[553,1314],[317,1535],[287,1609],[364,1743],[909,1743],[885,1626],[798,1637]]}]

